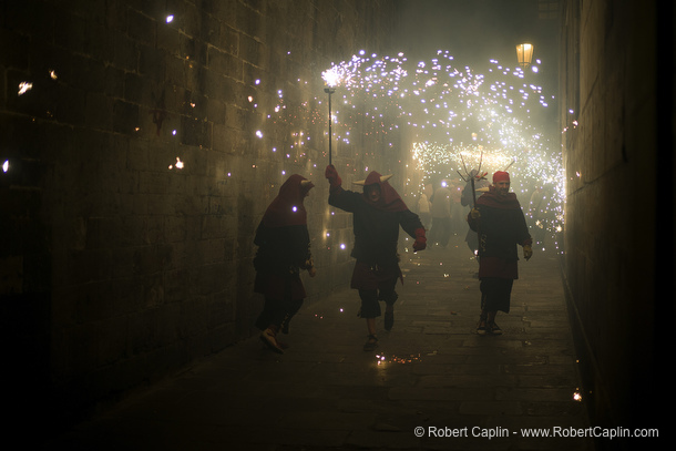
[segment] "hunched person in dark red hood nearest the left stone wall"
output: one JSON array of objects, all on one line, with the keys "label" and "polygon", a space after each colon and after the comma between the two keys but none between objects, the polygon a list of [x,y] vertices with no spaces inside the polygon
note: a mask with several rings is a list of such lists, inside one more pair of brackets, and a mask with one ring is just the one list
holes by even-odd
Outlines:
[{"label": "hunched person in dark red hood nearest the left stone wall", "polygon": [[301,175],[288,177],[263,215],[254,238],[258,246],[254,258],[254,291],[265,297],[256,327],[262,330],[263,342],[279,353],[284,353],[286,345],[277,339],[277,334],[288,332],[288,324],[306,297],[300,269],[307,269],[315,277],[307,212],[303,205],[314,186]]}]

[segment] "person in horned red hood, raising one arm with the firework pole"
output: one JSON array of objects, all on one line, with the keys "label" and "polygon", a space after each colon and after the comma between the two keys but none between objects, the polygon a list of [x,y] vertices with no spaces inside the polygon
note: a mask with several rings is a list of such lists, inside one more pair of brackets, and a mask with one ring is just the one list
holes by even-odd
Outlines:
[{"label": "person in horned red hood, raising one arm with the firework pole", "polygon": [[359,290],[361,310],[366,318],[368,339],[363,350],[377,347],[376,318],[381,315],[379,300],[386,304],[385,329],[395,324],[395,301],[397,279],[402,279],[399,268],[397,244],[399,226],[416,238],[413,250],[427,246],[424,227],[417,214],[411,212],[397,191],[387,182],[389,176],[371,172],[363,182],[362,193],[342,188],[342,181],[334,165],[325,172],[330,183],[329,205],[352,213],[355,246],[351,256],[356,258],[350,287]]}]

